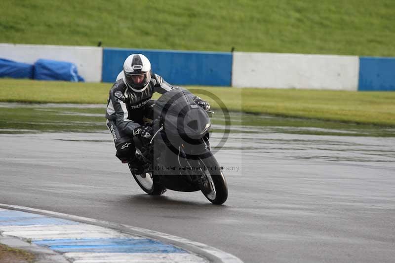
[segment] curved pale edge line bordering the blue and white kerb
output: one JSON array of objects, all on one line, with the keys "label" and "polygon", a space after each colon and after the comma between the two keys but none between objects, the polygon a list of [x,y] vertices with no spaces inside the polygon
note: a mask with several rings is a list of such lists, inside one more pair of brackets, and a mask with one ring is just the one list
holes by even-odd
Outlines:
[{"label": "curved pale edge line bordering the blue and white kerb", "polygon": [[38,214],[42,214],[42,215],[51,215],[51,216],[58,217],[58,218],[63,218],[63,219],[93,224],[93,225],[100,225],[100,226],[104,226],[104,227],[109,227],[109,228],[117,229],[117,230],[124,232],[124,233],[142,235],[145,237],[156,239],[158,241],[162,241],[167,244],[171,244],[171,245],[180,247],[184,250],[193,252],[197,255],[201,255],[203,257],[208,258],[211,262],[214,262],[214,263],[220,263],[220,262],[221,263],[242,263],[242,261],[239,258],[237,258],[236,256],[226,253],[222,250],[216,249],[214,247],[210,247],[210,246],[203,244],[203,243],[191,241],[186,238],[182,238],[182,237],[178,237],[178,236],[174,236],[174,235],[169,235],[169,234],[161,233],[161,232],[154,231],[154,230],[134,227],[134,226],[130,226],[130,225],[115,224],[115,223],[102,221],[102,220],[96,220],[96,219],[92,219],[92,218],[73,216],[73,215],[57,213],[57,212],[52,212],[52,211],[47,211],[47,210],[41,210],[41,209],[36,209],[36,208],[30,208],[30,207],[24,207],[24,206],[7,205],[7,204],[0,203],[0,207],[6,208],[6,209],[17,209],[17,210],[31,212],[31,213],[38,213]]}]

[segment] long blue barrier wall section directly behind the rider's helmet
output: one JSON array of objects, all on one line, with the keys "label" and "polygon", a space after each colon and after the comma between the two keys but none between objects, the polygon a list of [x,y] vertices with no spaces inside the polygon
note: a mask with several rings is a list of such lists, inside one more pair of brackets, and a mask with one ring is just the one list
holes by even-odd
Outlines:
[{"label": "long blue barrier wall section directly behind the rider's helmet", "polygon": [[123,62],[133,53],[145,55],[152,65],[153,73],[167,82],[178,85],[230,86],[232,53],[190,52],[144,49],[103,49],[104,82],[114,82],[122,70]]}]

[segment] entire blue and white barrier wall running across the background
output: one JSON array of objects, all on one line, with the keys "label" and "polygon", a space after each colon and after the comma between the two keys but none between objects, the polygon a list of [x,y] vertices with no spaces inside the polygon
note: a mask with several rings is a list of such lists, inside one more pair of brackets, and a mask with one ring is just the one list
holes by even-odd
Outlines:
[{"label": "entire blue and white barrier wall running across the background", "polygon": [[395,90],[395,58],[0,43],[0,58],[72,62],[88,82],[115,81],[132,53],[146,55],[154,73],[179,85]]}]

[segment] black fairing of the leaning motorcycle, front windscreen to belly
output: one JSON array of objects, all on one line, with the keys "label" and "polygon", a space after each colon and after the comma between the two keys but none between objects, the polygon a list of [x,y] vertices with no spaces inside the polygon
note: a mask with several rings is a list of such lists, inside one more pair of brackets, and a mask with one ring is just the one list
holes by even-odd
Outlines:
[{"label": "black fairing of the leaning motorcycle, front windscreen to belly", "polygon": [[194,98],[191,92],[178,87],[162,94],[153,106],[153,117],[159,121],[153,123],[154,134],[158,134],[149,144],[152,174],[171,190],[200,190],[198,176],[194,176],[199,171],[190,169],[196,169],[200,158],[212,156],[207,146],[211,121]]}]

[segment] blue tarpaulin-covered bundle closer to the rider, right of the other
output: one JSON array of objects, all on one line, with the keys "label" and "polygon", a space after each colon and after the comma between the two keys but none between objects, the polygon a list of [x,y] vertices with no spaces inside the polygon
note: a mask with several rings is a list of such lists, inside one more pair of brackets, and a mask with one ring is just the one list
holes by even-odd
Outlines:
[{"label": "blue tarpaulin-covered bundle closer to the rider, right of the other", "polygon": [[73,63],[39,59],[34,64],[34,78],[43,80],[84,81]]}]

